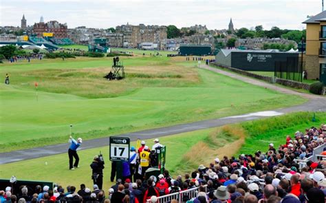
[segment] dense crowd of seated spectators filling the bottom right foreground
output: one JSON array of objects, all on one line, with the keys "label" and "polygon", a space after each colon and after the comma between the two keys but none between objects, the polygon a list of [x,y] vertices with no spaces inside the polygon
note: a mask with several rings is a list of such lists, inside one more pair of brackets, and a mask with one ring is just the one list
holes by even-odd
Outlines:
[{"label": "dense crowd of seated spectators filling the bottom right foreground", "polygon": [[[312,127],[305,132],[296,131],[294,136],[287,136],[284,145],[277,149],[272,143],[265,153],[241,154],[239,157],[215,158],[208,166],[200,164],[198,169],[184,176],[172,178],[169,171],[164,171],[157,178],[137,179],[131,182],[127,178],[118,179],[109,191],[93,190],[80,185],[36,186],[29,189],[22,186],[12,195],[8,186],[0,191],[0,202],[5,203],[133,203],[160,202],[157,197],[198,187],[197,197],[182,195],[182,202],[193,203],[325,203],[326,178],[325,160],[307,161],[306,167],[299,168],[296,160],[303,160],[312,155],[313,149],[326,141],[326,125]],[[323,149],[326,155],[326,149]],[[162,201],[161,201],[162,202]],[[171,200],[171,202],[178,202]]]}]

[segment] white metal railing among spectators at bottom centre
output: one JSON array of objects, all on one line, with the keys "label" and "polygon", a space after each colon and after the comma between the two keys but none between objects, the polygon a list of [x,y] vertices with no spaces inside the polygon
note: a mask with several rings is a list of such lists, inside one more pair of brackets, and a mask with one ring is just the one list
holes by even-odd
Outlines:
[{"label": "white metal railing among spectators at bottom centre", "polygon": [[[206,186],[207,185],[204,186],[205,190],[206,190]],[[177,202],[182,203],[182,202],[185,202],[184,197],[188,197],[188,200],[191,200],[192,198],[197,197],[198,189],[199,189],[199,187],[195,187],[193,189],[188,189],[185,191],[180,191],[180,192],[172,193],[169,195],[163,195],[163,196],[157,197],[156,203],[171,202],[171,200],[177,200]],[[146,200],[146,202],[150,203],[151,200]]]}]

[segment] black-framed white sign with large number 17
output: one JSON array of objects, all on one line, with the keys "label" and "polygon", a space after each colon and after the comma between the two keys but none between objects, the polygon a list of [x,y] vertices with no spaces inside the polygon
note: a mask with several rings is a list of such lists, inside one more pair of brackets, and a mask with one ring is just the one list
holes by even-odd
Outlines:
[{"label": "black-framed white sign with large number 17", "polygon": [[110,137],[110,160],[128,161],[129,160],[130,138]]}]

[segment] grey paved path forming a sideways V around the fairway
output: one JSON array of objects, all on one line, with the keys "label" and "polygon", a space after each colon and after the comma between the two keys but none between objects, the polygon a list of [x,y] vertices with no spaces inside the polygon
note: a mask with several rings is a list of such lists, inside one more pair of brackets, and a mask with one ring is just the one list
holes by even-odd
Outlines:
[{"label": "grey paved path forming a sideways V around the fairway", "polygon": [[[277,87],[269,83],[264,83],[261,81],[254,80],[252,78],[240,76],[238,74],[225,72],[223,70],[218,70],[213,67],[204,66],[202,68],[213,72],[217,72],[218,74],[224,74],[226,76],[230,76],[231,78],[235,78],[237,80],[241,80],[246,83],[250,83],[252,85],[258,85],[268,89],[274,89],[278,92],[283,92],[284,94],[295,94],[298,96],[303,96],[304,98],[309,98],[309,101],[307,103],[304,103],[303,105],[288,107],[284,109],[276,109],[274,111],[259,111],[251,114],[203,120],[203,121],[191,122],[182,125],[174,125],[170,127],[160,127],[157,129],[148,129],[144,131],[136,131],[133,133],[124,133],[116,136],[128,136],[131,138],[131,141],[137,140],[137,138],[140,138],[141,140],[146,140],[151,138],[170,136],[177,133],[197,131],[200,129],[208,129],[211,127],[219,127],[222,125],[242,122],[246,120],[256,120],[259,118],[266,118],[269,116],[279,116],[281,114],[295,112],[295,111],[326,111],[326,97],[295,92],[291,89]],[[108,145],[109,145],[109,138],[96,138],[93,140],[85,140],[82,145],[83,147],[81,147],[80,150],[91,149],[95,147],[105,147]],[[0,153],[0,164],[17,162],[21,160],[29,160],[33,158],[40,158],[43,156],[51,156],[59,153],[65,153],[67,152],[68,147],[69,147],[68,143],[65,143],[61,145],[50,145],[50,146],[38,147],[34,149],[24,149],[19,151]]]}]

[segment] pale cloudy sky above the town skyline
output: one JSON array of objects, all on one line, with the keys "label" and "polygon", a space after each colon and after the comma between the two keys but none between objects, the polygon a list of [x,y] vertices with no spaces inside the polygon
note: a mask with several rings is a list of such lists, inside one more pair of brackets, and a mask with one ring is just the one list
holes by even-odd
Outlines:
[{"label": "pale cloudy sky above the town skyline", "polygon": [[[307,16],[322,11],[322,0],[0,0],[0,26],[44,21],[67,23],[68,28],[115,28],[117,25],[206,25],[226,29],[263,25],[302,30]],[[326,3],[326,1],[325,1]]]}]

